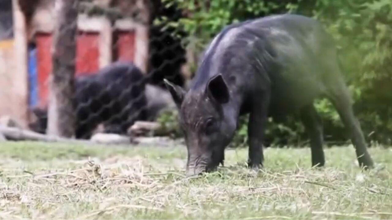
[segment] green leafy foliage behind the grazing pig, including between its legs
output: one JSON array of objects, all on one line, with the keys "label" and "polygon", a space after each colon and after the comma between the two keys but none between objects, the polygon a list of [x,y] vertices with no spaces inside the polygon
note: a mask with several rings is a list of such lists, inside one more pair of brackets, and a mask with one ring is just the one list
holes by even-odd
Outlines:
[{"label": "green leafy foliage behind the grazing pig, including between its legs", "polygon": [[[184,43],[197,54],[223,27],[239,21],[278,13],[312,16],[323,23],[336,40],[343,69],[353,95],[354,110],[365,136],[390,143],[392,133],[392,2],[390,0],[162,0],[176,5],[186,17],[166,22],[187,32]],[[159,22],[157,20],[157,22]],[[326,139],[348,138],[339,115],[326,99],[315,106],[323,118]],[[235,144],[244,145],[247,117],[240,119]],[[307,135],[298,117],[284,125],[270,121],[267,139],[271,144],[299,144]]]}]

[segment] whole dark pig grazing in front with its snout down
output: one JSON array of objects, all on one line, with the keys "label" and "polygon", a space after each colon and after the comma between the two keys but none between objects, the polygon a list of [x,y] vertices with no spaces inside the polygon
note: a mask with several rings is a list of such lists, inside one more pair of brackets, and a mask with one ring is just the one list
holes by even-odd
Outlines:
[{"label": "whole dark pig grazing in front with its snout down", "polygon": [[188,92],[165,83],[180,109],[187,175],[223,163],[238,117],[246,113],[250,113],[249,167],[263,163],[267,117],[296,112],[310,136],[312,165],[323,166],[322,125],[313,105],[318,97],[327,97],[338,110],[360,166],[373,166],[334,41],[311,18],[285,14],[229,25],[205,51]]}]

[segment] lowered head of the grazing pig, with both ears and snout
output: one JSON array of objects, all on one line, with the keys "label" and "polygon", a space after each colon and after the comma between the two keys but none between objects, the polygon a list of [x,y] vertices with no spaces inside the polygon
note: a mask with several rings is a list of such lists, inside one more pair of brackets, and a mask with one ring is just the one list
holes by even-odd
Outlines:
[{"label": "lowered head of the grazing pig, with both ears and snout", "polygon": [[179,109],[179,122],[188,150],[187,176],[215,170],[224,160],[225,147],[237,125],[236,111],[230,108],[230,91],[222,75],[207,85],[185,92],[165,80]]}]

